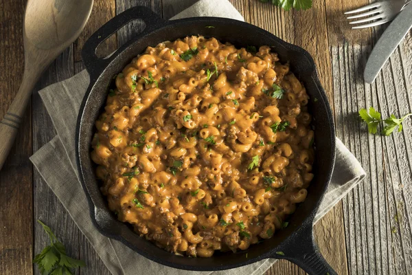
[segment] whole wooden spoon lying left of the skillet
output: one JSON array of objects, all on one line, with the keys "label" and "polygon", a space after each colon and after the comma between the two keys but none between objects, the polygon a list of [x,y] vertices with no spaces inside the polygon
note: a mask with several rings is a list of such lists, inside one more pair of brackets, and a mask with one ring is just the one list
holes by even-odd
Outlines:
[{"label": "whole wooden spoon lying left of the skillet", "polygon": [[0,122],[0,170],[14,143],[34,85],[50,63],[78,38],[92,7],[93,0],[27,1],[23,23],[23,81]]}]

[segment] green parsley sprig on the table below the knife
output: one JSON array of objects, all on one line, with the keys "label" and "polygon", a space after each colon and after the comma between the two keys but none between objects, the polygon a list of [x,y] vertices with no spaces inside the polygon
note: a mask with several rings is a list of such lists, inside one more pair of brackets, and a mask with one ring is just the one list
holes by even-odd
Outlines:
[{"label": "green parsley sprig on the table below the knife", "polygon": [[380,113],[376,111],[374,107],[369,107],[369,111],[366,109],[361,109],[359,111],[359,116],[367,123],[369,133],[376,134],[380,122],[385,123],[385,126],[381,131],[382,135],[391,135],[396,127],[398,127],[398,132],[402,131],[402,122],[405,118],[409,117],[409,115],[412,115],[412,113],[408,113],[407,115],[402,116],[402,118],[396,118],[396,116],[392,114],[389,118],[382,120],[380,118]]}]

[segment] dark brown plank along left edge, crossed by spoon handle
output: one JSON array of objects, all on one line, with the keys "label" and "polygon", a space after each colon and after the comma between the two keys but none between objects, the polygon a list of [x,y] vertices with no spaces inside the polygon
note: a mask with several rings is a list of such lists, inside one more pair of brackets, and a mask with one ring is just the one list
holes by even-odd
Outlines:
[{"label": "dark brown plank along left edge, crossed by spoon handle", "polygon": [[[0,1],[0,118],[23,77],[25,1]],[[0,171],[0,274],[32,273],[32,115],[28,107],[8,160]]]}]

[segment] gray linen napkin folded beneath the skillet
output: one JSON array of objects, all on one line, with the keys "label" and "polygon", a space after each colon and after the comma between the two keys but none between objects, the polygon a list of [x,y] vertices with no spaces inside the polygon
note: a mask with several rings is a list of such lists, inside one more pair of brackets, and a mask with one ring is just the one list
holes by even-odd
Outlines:
[{"label": "gray linen napkin folded beneath the skillet", "polygon": [[[216,9],[215,7],[219,7]],[[227,0],[201,0],[173,19],[213,16],[243,20]],[[73,221],[87,237],[112,274],[263,274],[275,259],[266,259],[244,267],[221,272],[190,272],[165,267],[133,252],[118,241],[108,239],[93,227],[89,217],[86,195],[78,181],[75,142],[76,120],[80,103],[89,85],[84,70],[76,76],[50,85],[39,94],[52,118],[58,135],[40,148],[30,160],[43,179],[69,212]],[[58,173],[56,173],[58,171]],[[318,221],[365,177],[365,171],[354,155],[336,138],[336,165],[330,187],[317,213]]]}]

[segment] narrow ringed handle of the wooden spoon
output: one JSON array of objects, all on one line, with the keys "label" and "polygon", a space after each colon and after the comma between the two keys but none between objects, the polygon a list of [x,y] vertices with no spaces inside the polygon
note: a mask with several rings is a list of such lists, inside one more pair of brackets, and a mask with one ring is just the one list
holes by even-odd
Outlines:
[{"label": "narrow ringed handle of the wooden spoon", "polygon": [[5,113],[3,120],[0,122],[0,170],[14,144],[14,138],[17,131],[19,131],[23,114],[30,100],[32,89],[37,82],[38,75],[26,77],[27,74],[25,74],[23,76],[19,92],[17,92],[7,113]]}]

